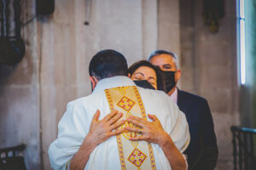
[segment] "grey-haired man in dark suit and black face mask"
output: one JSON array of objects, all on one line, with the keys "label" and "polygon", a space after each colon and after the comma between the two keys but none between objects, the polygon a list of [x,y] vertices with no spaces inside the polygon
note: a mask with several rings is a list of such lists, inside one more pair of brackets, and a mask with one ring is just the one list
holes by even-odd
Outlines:
[{"label": "grey-haired man in dark suit and black face mask", "polygon": [[184,154],[188,156],[189,170],[213,170],[218,159],[218,146],[214,133],[212,114],[207,100],[179,90],[181,77],[177,56],[166,50],[156,50],[148,60],[160,67],[166,77],[166,94],[185,113],[189,122],[190,143]]}]

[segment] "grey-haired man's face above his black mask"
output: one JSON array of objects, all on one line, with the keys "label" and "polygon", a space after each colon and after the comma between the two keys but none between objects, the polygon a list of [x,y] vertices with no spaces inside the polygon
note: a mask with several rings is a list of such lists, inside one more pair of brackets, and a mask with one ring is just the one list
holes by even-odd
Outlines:
[{"label": "grey-haired man's face above his black mask", "polygon": [[150,63],[160,67],[162,71],[176,71],[176,66],[169,54],[160,54],[150,59]]}]

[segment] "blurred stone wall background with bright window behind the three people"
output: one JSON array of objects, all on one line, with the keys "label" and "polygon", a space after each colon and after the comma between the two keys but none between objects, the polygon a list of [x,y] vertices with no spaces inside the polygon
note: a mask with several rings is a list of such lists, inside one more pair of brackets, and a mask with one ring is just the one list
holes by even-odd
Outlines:
[{"label": "blurred stone wall background with bright window behind the three people", "polygon": [[[255,0],[0,3],[0,148],[26,144],[27,169],[51,169],[47,151],[57,124],[68,101],[90,94],[89,62],[105,48],[125,54],[129,65],[155,49],[176,53],[179,88],[210,105],[216,169],[233,169],[230,127],[256,127]],[[9,22],[7,4],[17,12],[6,13]]]}]

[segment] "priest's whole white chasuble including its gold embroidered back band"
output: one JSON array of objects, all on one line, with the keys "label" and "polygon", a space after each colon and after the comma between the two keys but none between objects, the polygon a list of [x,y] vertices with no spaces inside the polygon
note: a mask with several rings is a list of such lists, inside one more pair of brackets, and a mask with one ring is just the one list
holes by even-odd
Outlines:
[{"label": "priest's whole white chasuble including its gold embroidered back band", "polygon": [[[170,96],[158,90],[135,86],[129,77],[104,78],[97,83],[92,94],[67,104],[58,125],[57,138],[49,146],[49,161],[53,169],[66,169],[90,132],[90,122],[97,110],[101,113],[99,121],[108,116],[111,109],[124,113],[123,118],[133,115],[146,120],[146,113],[154,114],[177,149],[183,152],[187,148],[190,139],[188,122]],[[125,126],[134,125],[126,123]],[[140,133],[125,132],[98,144],[90,153],[84,170],[172,170],[159,144],[131,142],[129,138],[135,135]]]}]

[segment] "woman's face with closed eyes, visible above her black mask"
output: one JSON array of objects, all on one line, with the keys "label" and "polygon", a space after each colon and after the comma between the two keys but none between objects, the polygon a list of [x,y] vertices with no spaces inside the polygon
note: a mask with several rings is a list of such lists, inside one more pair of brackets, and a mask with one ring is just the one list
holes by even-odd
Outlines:
[{"label": "woman's face with closed eyes, visible above her black mask", "polygon": [[141,66],[131,75],[131,80],[147,80],[155,89],[157,89],[156,73],[148,66]]}]

